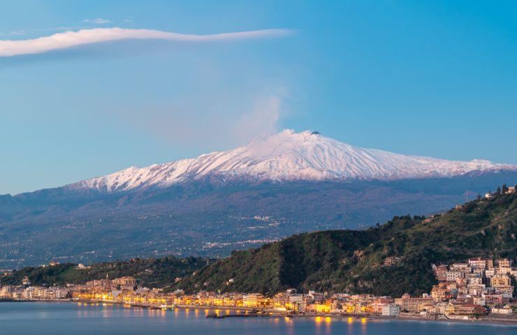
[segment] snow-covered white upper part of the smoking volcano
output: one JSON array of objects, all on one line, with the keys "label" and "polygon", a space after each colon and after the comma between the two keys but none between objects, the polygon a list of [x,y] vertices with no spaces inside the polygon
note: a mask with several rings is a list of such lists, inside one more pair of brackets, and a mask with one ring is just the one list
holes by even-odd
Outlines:
[{"label": "snow-covered white upper part of the smoking volcano", "polygon": [[251,181],[396,180],[456,177],[497,170],[517,170],[517,165],[393,154],[354,147],[317,132],[285,130],[237,149],[147,168],[131,167],[70,187],[115,192],[166,187],[205,177]]}]

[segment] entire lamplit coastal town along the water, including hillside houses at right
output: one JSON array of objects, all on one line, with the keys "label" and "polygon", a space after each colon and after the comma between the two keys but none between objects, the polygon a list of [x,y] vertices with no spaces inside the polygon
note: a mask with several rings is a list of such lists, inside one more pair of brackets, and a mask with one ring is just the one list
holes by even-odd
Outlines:
[{"label": "entire lamplit coastal town along the water, including hillside houses at right", "polygon": [[[397,257],[384,260],[396,266]],[[348,315],[367,318],[425,318],[429,320],[481,320],[488,315],[517,322],[514,285],[517,268],[509,259],[471,258],[467,262],[432,265],[437,285],[418,297],[378,297],[349,293],[297,292],[288,289],[268,296],[261,293],[207,292],[186,294],[140,287],[130,276],[68,284],[63,287],[34,286],[29,278],[21,285],[1,285],[0,299],[13,301],[77,301],[81,304],[112,303],[147,308],[210,308],[244,311],[247,315]],[[51,263],[48,266],[53,266]],[[78,265],[80,269],[87,269]],[[181,281],[177,278],[176,281]],[[228,278],[228,283],[233,278]],[[218,314],[214,315],[218,315]],[[224,317],[220,316],[221,318]]]}]

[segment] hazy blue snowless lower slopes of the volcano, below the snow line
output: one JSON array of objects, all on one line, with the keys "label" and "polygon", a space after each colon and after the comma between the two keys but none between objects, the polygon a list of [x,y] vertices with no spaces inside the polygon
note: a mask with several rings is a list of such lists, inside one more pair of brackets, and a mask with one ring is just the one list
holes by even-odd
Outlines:
[{"label": "hazy blue snowless lower slopes of the volcano, below the snow line", "polygon": [[516,182],[517,172],[500,172],[400,181],[199,181],[132,193],[58,188],[4,196],[0,268],[135,255],[220,258],[293,234],[365,229],[394,215],[436,213]]}]

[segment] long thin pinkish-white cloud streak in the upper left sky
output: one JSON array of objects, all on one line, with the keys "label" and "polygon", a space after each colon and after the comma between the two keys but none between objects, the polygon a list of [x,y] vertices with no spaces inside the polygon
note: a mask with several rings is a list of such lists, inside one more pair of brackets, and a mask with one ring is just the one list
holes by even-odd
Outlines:
[{"label": "long thin pinkish-white cloud streak in the upper left sky", "polygon": [[237,33],[194,35],[177,34],[152,29],[97,28],[80,31],[66,31],[30,40],[0,40],[0,57],[22,54],[41,54],[52,50],[66,49],[79,45],[109,42],[115,40],[169,40],[178,42],[210,42],[221,40],[244,40],[251,38],[279,37],[291,34],[289,29],[263,29]]}]

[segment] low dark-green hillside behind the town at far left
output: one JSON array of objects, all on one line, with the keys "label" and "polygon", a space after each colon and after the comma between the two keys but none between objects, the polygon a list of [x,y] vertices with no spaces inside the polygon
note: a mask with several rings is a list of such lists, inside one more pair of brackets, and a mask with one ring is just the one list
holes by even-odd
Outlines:
[{"label": "low dark-green hillside behind the town at far left", "polygon": [[149,287],[165,287],[174,283],[176,277],[187,276],[201,269],[210,260],[204,258],[136,258],[129,261],[102,262],[89,269],[75,269],[71,263],[52,267],[24,267],[13,271],[10,276],[0,277],[2,285],[20,285],[24,276],[29,277],[33,285],[64,285],[66,283],[85,283],[94,279],[133,276]]}]

